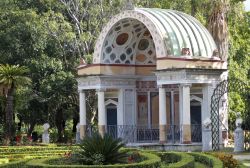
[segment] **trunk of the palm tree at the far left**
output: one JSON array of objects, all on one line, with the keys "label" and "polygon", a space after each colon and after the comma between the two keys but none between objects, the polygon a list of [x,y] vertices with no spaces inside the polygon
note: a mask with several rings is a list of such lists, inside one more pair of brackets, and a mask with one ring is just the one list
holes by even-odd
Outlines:
[{"label": "trunk of the palm tree at the far left", "polygon": [[14,126],[13,126],[13,95],[14,85],[12,84],[7,93],[6,107],[5,107],[5,143],[8,145],[13,139]]}]

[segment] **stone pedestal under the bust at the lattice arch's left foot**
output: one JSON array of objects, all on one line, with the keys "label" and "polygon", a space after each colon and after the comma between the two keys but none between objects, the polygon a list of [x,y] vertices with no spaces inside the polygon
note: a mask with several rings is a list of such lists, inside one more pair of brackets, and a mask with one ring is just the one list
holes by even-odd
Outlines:
[{"label": "stone pedestal under the bust at the lattice arch's left foot", "polygon": [[202,151],[212,150],[212,131],[210,128],[203,128]]}]

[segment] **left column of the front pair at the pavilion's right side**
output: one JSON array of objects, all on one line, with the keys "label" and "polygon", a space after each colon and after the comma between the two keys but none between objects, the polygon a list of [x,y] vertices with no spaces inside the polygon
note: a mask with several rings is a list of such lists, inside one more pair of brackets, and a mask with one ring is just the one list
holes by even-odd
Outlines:
[{"label": "left column of the front pair at the pavilion's right side", "polygon": [[165,91],[165,88],[159,87],[159,130],[160,130],[160,143],[165,143],[166,142],[166,127],[167,127],[166,91]]}]

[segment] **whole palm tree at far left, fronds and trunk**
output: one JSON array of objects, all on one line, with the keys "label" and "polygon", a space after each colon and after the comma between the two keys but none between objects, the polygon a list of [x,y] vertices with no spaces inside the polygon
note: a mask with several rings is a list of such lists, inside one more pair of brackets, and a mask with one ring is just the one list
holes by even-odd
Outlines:
[{"label": "whole palm tree at far left, fronds and trunk", "polygon": [[5,105],[5,141],[9,144],[13,137],[13,115],[14,104],[13,96],[15,89],[19,86],[25,86],[31,83],[31,79],[27,77],[29,70],[19,65],[0,65],[0,85],[6,88],[4,96],[6,98]]}]

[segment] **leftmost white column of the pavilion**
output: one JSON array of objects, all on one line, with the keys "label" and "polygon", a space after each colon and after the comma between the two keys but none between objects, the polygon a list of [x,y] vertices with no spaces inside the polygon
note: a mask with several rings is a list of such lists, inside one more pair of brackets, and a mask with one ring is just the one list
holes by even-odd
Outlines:
[{"label": "leftmost white column of the pavilion", "polygon": [[80,139],[83,139],[86,136],[86,96],[83,90],[79,92],[79,102],[80,102]]}]

